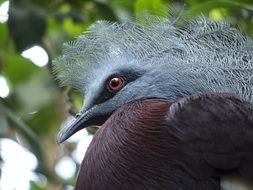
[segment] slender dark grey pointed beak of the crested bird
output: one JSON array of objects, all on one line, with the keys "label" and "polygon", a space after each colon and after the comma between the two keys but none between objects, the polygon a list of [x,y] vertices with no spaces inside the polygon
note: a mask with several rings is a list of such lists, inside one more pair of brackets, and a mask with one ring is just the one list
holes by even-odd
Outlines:
[{"label": "slender dark grey pointed beak of the crested bird", "polygon": [[58,144],[66,141],[76,132],[92,125],[102,125],[109,116],[101,115],[97,107],[92,107],[85,112],[80,112],[76,118],[68,125],[66,125],[58,133],[56,141]]}]

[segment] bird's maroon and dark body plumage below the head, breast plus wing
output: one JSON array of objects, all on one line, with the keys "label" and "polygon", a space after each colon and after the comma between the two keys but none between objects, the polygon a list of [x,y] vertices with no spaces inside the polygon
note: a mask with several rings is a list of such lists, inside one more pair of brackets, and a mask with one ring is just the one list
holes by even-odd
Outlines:
[{"label": "bird's maroon and dark body plumage below the head, breast plus wing", "polygon": [[226,173],[253,180],[248,113],[252,104],[224,94],[128,103],[96,132],[76,189],[218,190]]}]

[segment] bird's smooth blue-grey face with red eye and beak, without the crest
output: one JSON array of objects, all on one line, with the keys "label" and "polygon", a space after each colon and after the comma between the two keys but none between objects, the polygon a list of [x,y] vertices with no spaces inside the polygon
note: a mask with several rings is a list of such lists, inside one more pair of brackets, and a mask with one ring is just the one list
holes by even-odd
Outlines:
[{"label": "bird's smooth blue-grey face with red eye and beak, without the crest", "polygon": [[147,80],[152,79],[147,75],[147,70],[131,63],[90,70],[83,86],[85,104],[73,122],[60,131],[57,141],[61,143],[83,128],[102,125],[117,108],[130,101],[158,97],[156,85]]}]

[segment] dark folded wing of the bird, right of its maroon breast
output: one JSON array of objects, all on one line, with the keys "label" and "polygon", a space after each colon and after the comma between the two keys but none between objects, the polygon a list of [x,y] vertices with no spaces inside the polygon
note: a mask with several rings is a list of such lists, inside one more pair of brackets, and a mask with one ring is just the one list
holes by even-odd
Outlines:
[{"label": "dark folded wing of the bird, right of its maroon breast", "polygon": [[190,96],[172,104],[168,122],[195,177],[234,173],[253,180],[253,105],[229,94]]}]

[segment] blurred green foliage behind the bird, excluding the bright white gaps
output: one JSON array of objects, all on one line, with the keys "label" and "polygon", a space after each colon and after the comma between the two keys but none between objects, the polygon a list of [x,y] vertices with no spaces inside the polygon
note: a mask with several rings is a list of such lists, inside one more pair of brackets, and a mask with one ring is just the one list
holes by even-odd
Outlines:
[{"label": "blurred green foliage behind the bird, excluding the bright white gaps", "polygon": [[[65,189],[75,180],[61,179],[54,171],[58,160],[75,147],[55,143],[61,121],[82,106],[82,95],[59,87],[51,70],[63,42],[74,40],[99,19],[132,19],[145,10],[164,15],[173,7],[185,8],[189,17],[204,14],[229,20],[253,36],[252,0],[10,0],[8,22],[0,23],[0,72],[11,90],[7,98],[0,98],[0,137],[17,141],[39,160],[36,173],[48,183],[42,188],[31,182],[31,189]],[[33,45],[44,47],[47,66],[37,67],[21,56]]]}]

